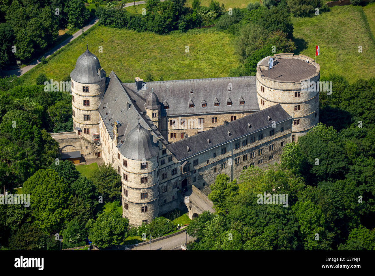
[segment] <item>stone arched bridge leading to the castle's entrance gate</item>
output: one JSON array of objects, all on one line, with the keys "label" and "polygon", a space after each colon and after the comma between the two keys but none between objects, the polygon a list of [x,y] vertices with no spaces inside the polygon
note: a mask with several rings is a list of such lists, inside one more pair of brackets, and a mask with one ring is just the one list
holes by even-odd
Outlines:
[{"label": "stone arched bridge leading to the castle's entrance gate", "polygon": [[184,203],[187,206],[187,210],[189,210],[190,219],[195,219],[204,211],[215,212],[212,202],[194,185],[192,185],[191,190],[189,188],[184,195]]}]

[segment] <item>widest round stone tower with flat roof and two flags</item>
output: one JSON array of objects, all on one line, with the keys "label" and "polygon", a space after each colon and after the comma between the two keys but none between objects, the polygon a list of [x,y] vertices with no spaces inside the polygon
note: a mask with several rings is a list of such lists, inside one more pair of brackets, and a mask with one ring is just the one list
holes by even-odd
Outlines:
[{"label": "widest round stone tower with flat roof and two flags", "polygon": [[297,141],[319,122],[316,82],[320,78],[320,66],[308,56],[283,53],[273,56],[273,67],[268,70],[269,58],[265,57],[257,65],[260,110],[281,104],[293,118],[291,142]]}]

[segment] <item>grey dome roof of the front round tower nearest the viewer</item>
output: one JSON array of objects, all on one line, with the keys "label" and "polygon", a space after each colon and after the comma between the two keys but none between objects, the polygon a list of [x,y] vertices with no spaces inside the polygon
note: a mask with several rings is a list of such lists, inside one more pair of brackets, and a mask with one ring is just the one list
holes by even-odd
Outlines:
[{"label": "grey dome roof of the front round tower nearest the viewer", "polygon": [[127,134],[121,151],[124,157],[133,160],[148,159],[159,154],[159,148],[152,142],[149,131],[138,125]]}]

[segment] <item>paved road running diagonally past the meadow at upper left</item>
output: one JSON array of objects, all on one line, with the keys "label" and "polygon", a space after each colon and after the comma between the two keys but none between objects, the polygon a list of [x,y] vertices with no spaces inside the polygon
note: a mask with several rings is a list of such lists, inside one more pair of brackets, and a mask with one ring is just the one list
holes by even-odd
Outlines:
[{"label": "paved road running diagonally past the meadow at upper left", "polygon": [[[160,1],[163,2],[165,0],[160,0]],[[130,3],[126,3],[123,7],[126,8],[126,7],[135,6],[135,5],[139,5],[139,4],[145,4],[145,3],[146,3],[146,1],[130,2]],[[99,21],[98,17],[95,17],[93,20],[91,20],[89,22],[89,24],[87,24],[83,28],[84,32],[86,32],[88,29],[90,29],[92,26],[94,26],[96,23],[98,23],[98,21]],[[57,46],[55,46],[54,48],[49,50],[47,53],[43,54],[43,56],[45,58],[51,56],[51,54],[55,53],[57,50],[60,50],[62,47],[64,47],[66,44],[73,41],[74,39],[76,39],[80,35],[82,35],[82,29],[80,29],[78,32],[74,33],[70,38],[66,39],[65,41],[61,42],[60,44],[58,44]],[[30,62],[27,66],[25,66],[23,68],[23,71],[22,71],[22,68],[21,69],[14,69],[14,70],[2,70],[0,75],[1,75],[1,77],[9,76],[9,75],[17,75],[17,77],[20,77],[22,75],[22,72],[23,72],[23,74],[25,74],[31,68],[38,65],[37,60],[39,60],[39,62],[40,62],[41,59],[42,59],[42,56],[40,56],[36,60],[33,60],[32,62]]]}]

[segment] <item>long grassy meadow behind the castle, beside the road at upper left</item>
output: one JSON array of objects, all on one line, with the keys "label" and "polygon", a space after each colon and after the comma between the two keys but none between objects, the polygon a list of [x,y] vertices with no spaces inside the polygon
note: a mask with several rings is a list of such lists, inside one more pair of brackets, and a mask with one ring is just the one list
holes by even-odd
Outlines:
[{"label": "long grassy meadow behind the castle, beside the road at upper left", "polygon": [[[86,50],[98,56],[101,66],[113,70],[123,82],[144,78],[151,72],[156,80],[227,77],[239,60],[234,54],[233,36],[214,29],[194,29],[186,33],[157,35],[151,32],[93,26],[84,37],[78,37],[62,48],[48,63],[39,64],[24,75],[25,84],[34,84],[40,73],[62,80]],[[98,47],[103,46],[103,53]],[[189,53],[185,52],[189,46]],[[77,168],[80,166],[77,166]]]}]

